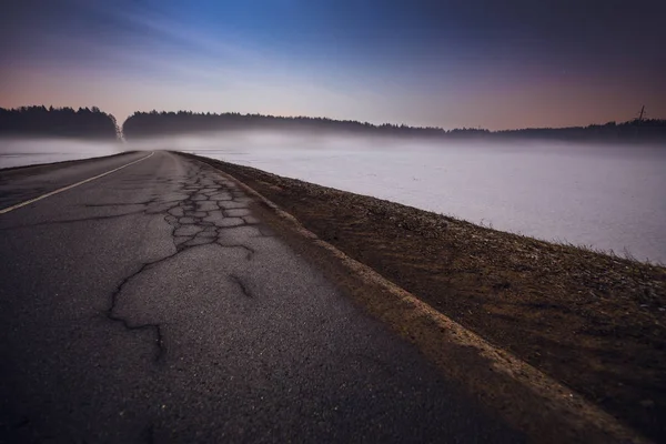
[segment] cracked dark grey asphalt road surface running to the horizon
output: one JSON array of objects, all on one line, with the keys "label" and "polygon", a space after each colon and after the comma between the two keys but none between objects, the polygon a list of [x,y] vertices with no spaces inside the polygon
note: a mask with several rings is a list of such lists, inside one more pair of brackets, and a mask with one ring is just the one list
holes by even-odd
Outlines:
[{"label": "cracked dark grey asphalt road surface running to the horizon", "polygon": [[[0,171],[0,209],[145,157]],[[0,442],[519,442],[167,152],[0,214]]]}]

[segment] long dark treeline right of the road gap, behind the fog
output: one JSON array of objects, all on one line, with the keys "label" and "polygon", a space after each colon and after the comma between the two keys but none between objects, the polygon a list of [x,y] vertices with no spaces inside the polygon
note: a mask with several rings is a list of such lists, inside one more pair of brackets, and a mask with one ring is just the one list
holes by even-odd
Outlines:
[{"label": "long dark treeline right of the road gap, behind the fog", "polygon": [[428,138],[492,138],[492,139],[551,139],[571,141],[652,141],[666,142],[666,120],[635,119],[624,123],[572,128],[537,128],[508,131],[483,129],[422,128],[394,124],[374,125],[351,120],[307,117],[274,117],[179,112],[135,112],[123,124],[127,139],[172,135],[228,130],[297,130],[333,133],[363,133]]}]

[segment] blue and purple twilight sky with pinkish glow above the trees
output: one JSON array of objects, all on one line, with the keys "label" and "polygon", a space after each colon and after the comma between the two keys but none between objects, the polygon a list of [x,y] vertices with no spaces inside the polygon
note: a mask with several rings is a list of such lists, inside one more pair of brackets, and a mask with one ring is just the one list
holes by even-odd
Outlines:
[{"label": "blue and purple twilight sky with pinkish glow above the trees", "polygon": [[666,118],[666,1],[9,0],[0,107],[491,130]]}]

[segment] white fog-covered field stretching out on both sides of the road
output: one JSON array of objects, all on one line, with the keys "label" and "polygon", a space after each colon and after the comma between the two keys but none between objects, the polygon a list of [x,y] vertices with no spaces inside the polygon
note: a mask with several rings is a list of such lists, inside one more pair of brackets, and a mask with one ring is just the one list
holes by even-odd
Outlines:
[{"label": "white fog-covered field stretching out on both sides of the road", "polygon": [[[57,147],[34,144],[30,158],[65,160],[57,159]],[[77,149],[85,150],[81,157],[113,150]],[[664,147],[225,133],[125,149],[191,152],[503,231],[666,263]],[[63,147],[62,155],[77,155],[74,145]],[[0,154],[0,168],[4,162]]]}]

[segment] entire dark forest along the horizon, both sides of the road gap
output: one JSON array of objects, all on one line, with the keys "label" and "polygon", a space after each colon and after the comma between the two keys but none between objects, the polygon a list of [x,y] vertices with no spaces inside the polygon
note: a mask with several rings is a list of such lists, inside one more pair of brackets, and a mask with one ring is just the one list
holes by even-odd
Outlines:
[{"label": "entire dark forest along the horizon, both sides of the road gap", "polygon": [[[216,132],[232,130],[307,131],[334,134],[369,134],[391,137],[418,137],[443,139],[547,139],[563,141],[645,141],[666,142],[666,120],[637,118],[627,122],[592,124],[571,128],[535,128],[488,131],[476,128],[443,130],[432,127],[407,127],[384,123],[381,125],[352,120],[332,120],[307,117],[274,117],[263,114],[222,114],[178,112],[135,112],[122,125],[125,139]],[[113,115],[97,107],[0,108],[0,137],[65,137],[114,140],[120,129]]]}]

